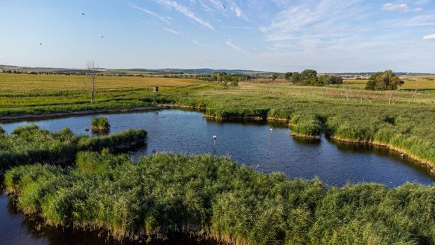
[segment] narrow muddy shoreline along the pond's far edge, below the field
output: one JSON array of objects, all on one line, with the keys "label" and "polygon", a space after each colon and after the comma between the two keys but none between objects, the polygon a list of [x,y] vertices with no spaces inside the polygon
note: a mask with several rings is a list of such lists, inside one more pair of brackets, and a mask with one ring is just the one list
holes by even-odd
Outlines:
[{"label": "narrow muddy shoreline along the pond's far edge, below the field", "polygon": [[[161,104],[156,105],[155,107],[138,107],[138,108],[131,108],[131,109],[119,109],[119,110],[86,110],[86,111],[77,111],[77,112],[59,112],[59,113],[52,113],[52,114],[24,114],[20,116],[13,116],[13,117],[0,117],[0,122],[8,122],[8,121],[21,121],[21,120],[36,120],[36,119],[55,119],[59,117],[69,117],[69,116],[83,116],[83,115],[91,115],[91,114],[101,114],[101,113],[129,113],[129,112],[149,112],[149,111],[155,111],[155,110],[165,110],[165,109],[190,109],[190,110],[199,110],[201,112],[206,110],[206,107],[196,107],[196,106],[190,106],[190,105],[178,105],[178,104]],[[288,123],[288,119],[278,118],[278,117],[229,117],[229,118],[222,118],[222,117],[215,117],[212,115],[203,114],[203,118],[206,119],[212,119],[216,121],[237,121],[237,120],[247,120],[247,121],[279,121],[283,123]],[[289,124],[289,126],[295,126],[295,124]],[[293,135],[297,138],[307,139],[307,140],[320,140],[320,135],[300,135],[297,133],[291,133],[290,135]],[[388,150],[391,150],[393,152],[397,152],[399,154],[404,155],[406,158],[412,159],[413,161],[416,161],[419,164],[422,164],[423,166],[427,167],[429,169],[429,173],[431,176],[435,176],[435,163],[432,163],[431,161],[427,161],[426,159],[422,159],[421,157],[417,157],[415,154],[412,154],[408,152],[408,150],[404,150],[399,147],[395,147],[394,145],[389,145],[387,143],[377,142],[377,141],[370,141],[370,140],[352,140],[352,139],[346,139],[346,138],[340,138],[335,135],[328,134],[326,132],[326,135],[328,137],[338,143],[352,143],[352,144],[359,144],[359,145],[374,145],[377,147],[385,147]],[[403,157],[403,156],[402,156]]]}]

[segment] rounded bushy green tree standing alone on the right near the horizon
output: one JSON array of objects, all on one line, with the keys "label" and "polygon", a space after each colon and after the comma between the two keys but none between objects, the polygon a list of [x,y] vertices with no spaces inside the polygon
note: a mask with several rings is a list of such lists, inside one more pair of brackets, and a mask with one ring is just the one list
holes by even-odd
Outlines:
[{"label": "rounded bushy green tree standing alone on the right near the horizon", "polygon": [[370,76],[367,81],[366,89],[368,90],[396,90],[398,86],[404,84],[394,72],[386,70],[385,72],[377,72]]}]

